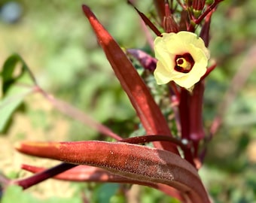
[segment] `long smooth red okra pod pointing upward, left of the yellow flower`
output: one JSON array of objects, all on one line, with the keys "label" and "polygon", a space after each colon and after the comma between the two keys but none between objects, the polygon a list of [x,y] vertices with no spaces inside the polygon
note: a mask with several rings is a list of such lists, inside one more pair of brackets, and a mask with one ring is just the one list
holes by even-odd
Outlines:
[{"label": "long smooth red okra pod pointing upward, left of the yellow flower", "polygon": [[[171,135],[160,108],[154,102],[154,98],[142,78],[139,77],[139,74],[127,58],[126,54],[123,53],[123,50],[117,42],[114,41],[108,31],[105,30],[101,23],[99,23],[93,12],[90,11],[90,8],[83,5],[83,11],[90,21],[99,44],[102,46],[114,73],[130,98],[133,107],[136,109],[136,113],[147,134]],[[178,153],[177,148],[173,144],[159,142],[155,146]]]}]

